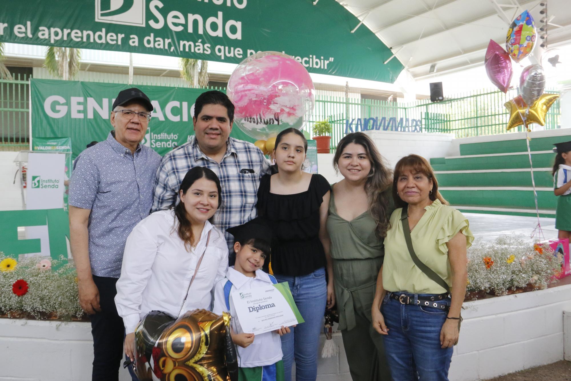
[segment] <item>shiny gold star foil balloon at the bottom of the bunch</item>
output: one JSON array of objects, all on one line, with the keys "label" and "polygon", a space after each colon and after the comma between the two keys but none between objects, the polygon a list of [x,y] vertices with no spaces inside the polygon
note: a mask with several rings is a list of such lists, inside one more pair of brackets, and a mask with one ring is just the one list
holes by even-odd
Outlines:
[{"label": "shiny gold star foil balloon at the bottom of the bunch", "polygon": [[521,95],[505,102],[504,107],[508,109],[509,112],[508,130],[524,125],[529,132],[531,131],[529,129],[529,124],[531,123],[544,126],[545,114],[547,114],[549,108],[557,98],[559,98],[559,94],[544,93],[530,108],[525,104]]}]

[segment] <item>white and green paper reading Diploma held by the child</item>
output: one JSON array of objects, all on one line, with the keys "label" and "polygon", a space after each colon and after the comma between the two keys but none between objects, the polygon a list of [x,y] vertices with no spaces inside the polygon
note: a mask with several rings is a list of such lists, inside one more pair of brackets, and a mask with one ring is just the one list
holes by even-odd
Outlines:
[{"label": "white and green paper reading Diploma held by the child", "polygon": [[304,322],[287,282],[268,284],[247,292],[234,291],[232,301],[240,326],[247,334],[263,334]]}]

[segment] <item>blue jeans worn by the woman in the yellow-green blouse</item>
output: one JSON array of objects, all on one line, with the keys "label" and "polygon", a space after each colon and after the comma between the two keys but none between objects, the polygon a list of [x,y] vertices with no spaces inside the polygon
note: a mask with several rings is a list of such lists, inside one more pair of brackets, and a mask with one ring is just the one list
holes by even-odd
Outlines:
[{"label": "blue jeans worn by the woman in the yellow-green blouse", "polygon": [[[450,299],[438,303],[450,305]],[[389,299],[388,293],[381,312],[389,328],[383,340],[393,381],[448,381],[453,348],[440,347],[440,331],[448,312],[401,304],[398,300]]]}]

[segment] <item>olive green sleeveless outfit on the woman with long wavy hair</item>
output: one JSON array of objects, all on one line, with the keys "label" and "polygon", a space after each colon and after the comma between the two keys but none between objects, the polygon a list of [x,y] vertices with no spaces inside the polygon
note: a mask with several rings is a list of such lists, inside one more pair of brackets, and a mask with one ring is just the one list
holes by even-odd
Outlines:
[{"label": "olive green sleeveless outfit on the woman with long wavy hair", "polygon": [[[390,216],[394,206],[387,192]],[[375,220],[364,212],[351,221],[337,215],[331,192],[327,231],[335,276],[339,330],[353,380],[390,381],[383,339],[372,327],[371,307],[377,275],[383,264],[383,239],[375,236]]]}]

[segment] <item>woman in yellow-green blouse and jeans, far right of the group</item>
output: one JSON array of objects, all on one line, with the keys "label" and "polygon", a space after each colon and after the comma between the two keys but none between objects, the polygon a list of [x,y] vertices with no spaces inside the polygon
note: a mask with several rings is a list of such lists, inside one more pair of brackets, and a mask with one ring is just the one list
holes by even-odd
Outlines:
[{"label": "woman in yellow-green blouse and jeans, far right of the group", "polygon": [[385,237],[373,327],[384,335],[393,379],[448,380],[473,235],[468,220],[438,192],[435,174],[423,157],[403,157],[394,176],[393,197],[401,208],[392,213]]}]

